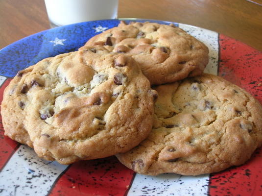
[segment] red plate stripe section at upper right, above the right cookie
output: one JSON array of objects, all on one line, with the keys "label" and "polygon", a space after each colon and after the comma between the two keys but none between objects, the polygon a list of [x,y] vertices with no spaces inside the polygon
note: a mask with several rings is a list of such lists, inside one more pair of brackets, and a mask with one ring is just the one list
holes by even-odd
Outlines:
[{"label": "red plate stripe section at upper right, above the right cookie", "polygon": [[262,103],[262,52],[219,35],[218,75],[245,89]]}]

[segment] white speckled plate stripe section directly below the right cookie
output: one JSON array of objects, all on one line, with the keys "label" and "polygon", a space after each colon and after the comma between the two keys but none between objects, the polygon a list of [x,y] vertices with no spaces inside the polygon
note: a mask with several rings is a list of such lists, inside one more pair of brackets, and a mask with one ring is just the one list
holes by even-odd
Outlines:
[{"label": "white speckled plate stripe section directly below the right cookie", "polygon": [[164,173],[158,176],[136,174],[127,196],[203,196],[208,194],[209,174],[184,176]]}]

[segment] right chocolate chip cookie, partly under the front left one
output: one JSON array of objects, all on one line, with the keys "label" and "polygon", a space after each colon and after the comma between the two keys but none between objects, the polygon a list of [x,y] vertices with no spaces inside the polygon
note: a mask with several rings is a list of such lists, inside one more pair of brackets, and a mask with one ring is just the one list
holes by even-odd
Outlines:
[{"label": "right chocolate chip cookie, partly under the front left one", "polygon": [[225,79],[203,74],[154,89],[152,132],[117,155],[135,172],[219,172],[245,163],[262,145],[261,104]]}]

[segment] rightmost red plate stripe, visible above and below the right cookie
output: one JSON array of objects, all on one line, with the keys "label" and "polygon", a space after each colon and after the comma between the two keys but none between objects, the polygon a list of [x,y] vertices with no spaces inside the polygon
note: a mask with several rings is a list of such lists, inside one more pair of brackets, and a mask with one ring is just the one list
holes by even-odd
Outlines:
[{"label": "rightmost red plate stripe, visible above and below the right cookie", "polygon": [[[262,103],[262,52],[224,35],[219,36],[219,75],[251,93]],[[242,166],[211,174],[211,196],[262,195],[262,148]]]}]

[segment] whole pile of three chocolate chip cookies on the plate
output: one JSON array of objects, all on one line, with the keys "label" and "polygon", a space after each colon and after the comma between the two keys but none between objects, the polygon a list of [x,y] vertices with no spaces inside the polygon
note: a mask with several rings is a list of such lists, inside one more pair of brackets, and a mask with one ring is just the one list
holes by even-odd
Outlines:
[{"label": "whole pile of three chocolate chip cookies on the plate", "polygon": [[20,71],[4,91],[5,135],[61,164],[116,155],[147,175],[243,164],[262,145],[262,106],[207,63],[178,27],[121,22]]}]

